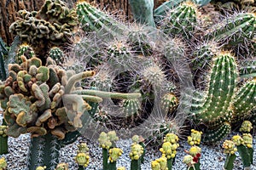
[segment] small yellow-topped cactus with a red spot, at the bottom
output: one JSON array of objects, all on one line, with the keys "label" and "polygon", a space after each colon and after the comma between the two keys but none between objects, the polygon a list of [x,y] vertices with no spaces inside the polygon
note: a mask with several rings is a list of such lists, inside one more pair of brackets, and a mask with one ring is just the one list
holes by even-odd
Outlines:
[{"label": "small yellow-topped cactus with a red spot, at the bottom", "polygon": [[201,143],[201,134],[202,132],[191,129],[191,134],[188,137],[188,143],[191,148],[189,151],[185,150],[188,155],[183,157],[183,162],[188,166],[188,170],[200,170],[201,148],[199,145]]}]

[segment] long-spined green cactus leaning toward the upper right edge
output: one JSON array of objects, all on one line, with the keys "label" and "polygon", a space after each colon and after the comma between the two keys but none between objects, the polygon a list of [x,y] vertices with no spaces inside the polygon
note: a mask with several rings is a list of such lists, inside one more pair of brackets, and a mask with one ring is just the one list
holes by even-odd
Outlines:
[{"label": "long-spined green cactus leaning toward the upper right edge", "polygon": [[255,35],[256,16],[250,13],[239,13],[213,26],[207,33],[209,39],[226,42],[230,46],[249,42]]}]

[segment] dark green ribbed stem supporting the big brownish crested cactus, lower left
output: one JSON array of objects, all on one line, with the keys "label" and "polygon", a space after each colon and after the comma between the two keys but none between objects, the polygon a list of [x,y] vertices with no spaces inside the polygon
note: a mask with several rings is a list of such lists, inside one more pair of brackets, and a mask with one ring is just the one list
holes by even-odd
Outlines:
[{"label": "dark green ribbed stem supporting the big brownish crested cactus, lower left", "polygon": [[48,170],[55,169],[59,163],[60,149],[58,139],[50,133],[32,138],[27,162],[28,169],[34,170],[38,166],[46,166]]}]

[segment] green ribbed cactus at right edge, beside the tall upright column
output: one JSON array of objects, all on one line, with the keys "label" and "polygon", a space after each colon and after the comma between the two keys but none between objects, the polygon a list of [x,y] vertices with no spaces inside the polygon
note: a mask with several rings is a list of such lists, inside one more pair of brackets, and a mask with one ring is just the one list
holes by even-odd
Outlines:
[{"label": "green ribbed cactus at right edge, beside the tall upright column", "polygon": [[233,101],[234,119],[244,120],[250,118],[251,111],[256,108],[256,78],[246,82],[236,94]]}]

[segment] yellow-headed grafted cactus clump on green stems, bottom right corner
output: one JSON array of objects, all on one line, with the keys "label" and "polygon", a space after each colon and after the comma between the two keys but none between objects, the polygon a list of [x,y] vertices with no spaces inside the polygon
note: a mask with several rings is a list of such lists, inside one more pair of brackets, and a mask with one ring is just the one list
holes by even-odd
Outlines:
[{"label": "yellow-headed grafted cactus clump on green stems, bottom right corner", "polygon": [[244,121],[241,124],[239,134],[232,137],[231,140],[225,140],[223,144],[224,153],[227,154],[224,163],[224,169],[232,170],[234,167],[234,161],[236,159],[236,151],[241,156],[241,161],[244,169],[250,169],[253,164],[253,136],[250,134],[253,125],[249,121]]}]

